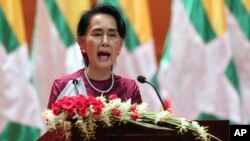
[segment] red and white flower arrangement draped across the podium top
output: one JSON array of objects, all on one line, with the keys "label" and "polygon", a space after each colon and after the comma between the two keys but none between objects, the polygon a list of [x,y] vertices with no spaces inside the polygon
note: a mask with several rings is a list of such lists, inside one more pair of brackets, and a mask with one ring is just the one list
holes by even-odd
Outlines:
[{"label": "red and white flower arrangement draped across the podium top", "polygon": [[[98,126],[106,128],[115,123],[130,122],[148,128],[175,130],[180,134],[191,131],[197,140],[220,140],[209,134],[208,128],[200,126],[196,121],[173,117],[167,110],[158,113],[146,112],[146,107],[146,103],[131,104],[131,100],[123,102],[115,94],[108,99],[104,96],[65,96],[54,103],[51,109],[45,110],[42,116],[49,130],[62,128],[66,139],[71,137],[73,126],[80,130],[84,140],[90,140],[95,138],[95,129]],[[159,123],[168,123],[175,128],[160,126]]]}]

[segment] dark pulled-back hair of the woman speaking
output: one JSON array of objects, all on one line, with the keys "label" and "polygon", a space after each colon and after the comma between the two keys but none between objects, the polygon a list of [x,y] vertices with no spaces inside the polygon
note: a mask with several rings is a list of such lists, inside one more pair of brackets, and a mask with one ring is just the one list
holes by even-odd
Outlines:
[{"label": "dark pulled-back hair of the woman speaking", "polygon": [[[77,26],[77,36],[83,36],[86,34],[91,18],[96,14],[108,14],[114,17],[117,25],[117,30],[123,39],[126,36],[126,25],[121,17],[119,11],[112,5],[108,4],[99,4],[92,8],[89,11],[86,11],[80,18],[78,26]],[[88,66],[88,57],[86,54],[82,52],[82,56],[84,57],[85,65]]]}]

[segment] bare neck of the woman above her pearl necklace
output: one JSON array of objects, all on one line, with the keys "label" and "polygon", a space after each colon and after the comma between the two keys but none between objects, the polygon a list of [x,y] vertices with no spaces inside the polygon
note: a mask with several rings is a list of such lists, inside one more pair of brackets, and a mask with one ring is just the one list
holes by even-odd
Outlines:
[{"label": "bare neck of the woman above her pearl necklace", "polygon": [[93,67],[86,67],[87,77],[92,80],[107,80],[111,77],[110,69],[96,69]]}]

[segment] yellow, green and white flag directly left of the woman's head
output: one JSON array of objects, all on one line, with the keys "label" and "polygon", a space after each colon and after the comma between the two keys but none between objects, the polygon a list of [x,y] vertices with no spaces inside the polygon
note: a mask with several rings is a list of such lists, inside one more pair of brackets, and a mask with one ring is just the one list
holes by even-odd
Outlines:
[{"label": "yellow, green and white flag directly left of the woman's head", "polygon": [[89,0],[38,0],[32,45],[34,83],[47,107],[53,81],[83,67],[76,28]]}]

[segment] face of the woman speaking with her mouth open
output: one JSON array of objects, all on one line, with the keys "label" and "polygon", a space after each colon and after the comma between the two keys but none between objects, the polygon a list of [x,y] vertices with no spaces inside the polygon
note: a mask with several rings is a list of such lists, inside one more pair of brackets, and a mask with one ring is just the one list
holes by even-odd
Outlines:
[{"label": "face of the woman speaking with her mouth open", "polygon": [[80,46],[87,52],[89,67],[96,69],[111,69],[123,42],[115,19],[108,14],[94,15],[82,40]]}]

